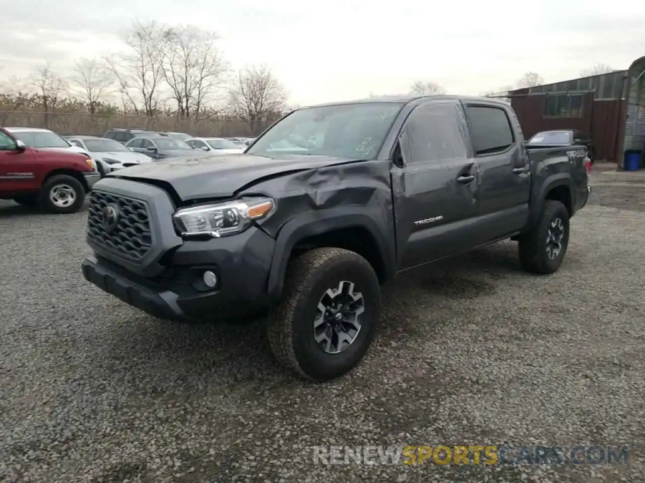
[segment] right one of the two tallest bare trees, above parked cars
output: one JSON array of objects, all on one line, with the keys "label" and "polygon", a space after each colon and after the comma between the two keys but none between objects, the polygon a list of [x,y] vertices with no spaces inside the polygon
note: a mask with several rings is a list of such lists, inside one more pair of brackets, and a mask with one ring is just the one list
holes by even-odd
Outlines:
[{"label": "right one of the two tallest bare trees, above parked cars", "polygon": [[177,102],[177,115],[197,117],[223,84],[228,64],[217,48],[217,34],[194,26],[164,32],[164,79]]}]

